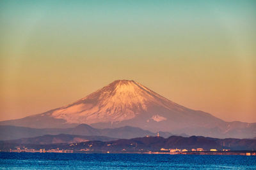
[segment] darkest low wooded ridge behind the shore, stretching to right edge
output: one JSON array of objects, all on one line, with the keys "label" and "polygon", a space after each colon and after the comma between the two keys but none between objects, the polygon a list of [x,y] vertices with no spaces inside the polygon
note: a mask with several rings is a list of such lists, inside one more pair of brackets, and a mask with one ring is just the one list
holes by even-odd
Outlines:
[{"label": "darkest low wooded ridge behind the shore, stretching to right edge", "polygon": [[143,137],[133,139],[118,139],[116,141],[88,141],[84,143],[77,143],[72,146],[72,149],[80,149],[92,145],[93,150],[115,150],[127,151],[132,150],[160,150],[161,148],[182,148],[191,150],[192,148],[204,148],[210,150],[212,148],[217,150],[230,149],[230,150],[256,150],[255,139],[218,139],[218,138],[205,138],[204,136],[190,136],[188,138],[182,136],[170,136],[169,138],[163,137]]}]

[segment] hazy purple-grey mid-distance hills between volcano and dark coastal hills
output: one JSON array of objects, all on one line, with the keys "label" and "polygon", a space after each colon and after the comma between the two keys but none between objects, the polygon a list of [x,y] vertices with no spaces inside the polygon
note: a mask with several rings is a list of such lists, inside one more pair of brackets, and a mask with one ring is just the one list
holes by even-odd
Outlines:
[{"label": "hazy purple-grey mid-distance hills between volcano and dark coastal hills", "polygon": [[[118,127],[114,129],[95,129],[90,125],[81,124],[67,129],[35,129],[30,127],[16,127],[12,125],[0,125],[0,141],[20,138],[33,138],[45,134],[72,134],[81,136],[107,136],[109,138],[138,138],[142,136],[156,136],[156,133],[145,131],[139,127]],[[159,132],[161,136],[172,136],[169,132]],[[187,136],[182,134],[182,136]]]}]

